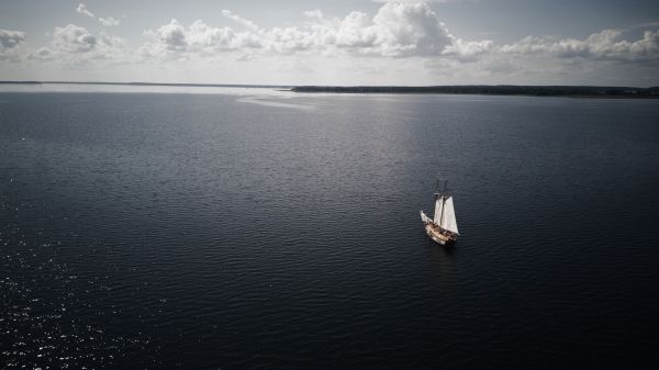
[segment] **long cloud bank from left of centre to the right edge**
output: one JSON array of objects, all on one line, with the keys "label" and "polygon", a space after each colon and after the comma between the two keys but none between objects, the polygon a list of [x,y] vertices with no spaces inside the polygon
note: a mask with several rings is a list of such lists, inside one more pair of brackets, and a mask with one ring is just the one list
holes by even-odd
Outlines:
[{"label": "long cloud bank from left of centre to the right edge", "polygon": [[238,23],[213,27],[198,20],[189,26],[171,20],[145,35],[152,40],[143,55],[171,53],[249,52],[272,54],[324,53],[372,57],[426,57],[477,61],[488,56],[543,55],[561,59],[651,61],[659,58],[659,31],[627,41],[619,30],[603,30],[584,40],[528,36],[495,45],[490,40],[465,41],[451,35],[439,16],[423,2],[386,2],[375,14],[354,11],[343,19],[326,19],[320,10],[305,12],[301,26],[261,29],[228,10],[223,15]]}]

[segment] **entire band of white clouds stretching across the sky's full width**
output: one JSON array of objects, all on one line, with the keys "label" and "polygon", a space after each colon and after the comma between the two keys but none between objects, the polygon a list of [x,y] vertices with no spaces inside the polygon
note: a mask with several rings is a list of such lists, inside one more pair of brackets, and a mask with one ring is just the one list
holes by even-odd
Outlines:
[{"label": "entire band of white clouds stretching across the sky's full width", "polygon": [[[83,3],[76,11],[104,27],[120,24],[112,16],[97,18]],[[659,30],[652,29],[635,38],[622,30],[602,30],[583,38],[540,35],[496,44],[451,34],[439,14],[418,1],[383,2],[372,15],[351,11],[343,18],[327,18],[321,10],[310,10],[301,24],[275,27],[263,27],[231,10],[221,14],[226,20],[221,26],[202,20],[186,25],[171,19],[144,31],[142,44],[131,47],[105,31],[92,32],[72,23],[55,27],[49,44],[37,48],[24,47],[23,32],[0,30],[0,57],[4,63],[55,60],[63,67],[87,64],[98,68],[108,63],[157,67],[194,60],[223,60],[226,66],[231,60],[235,70],[241,64],[255,66],[263,60],[275,61],[291,74],[314,76],[326,72],[320,68],[342,68],[353,76],[388,70],[404,76],[418,70],[422,79],[434,78],[426,83],[507,83],[523,76],[551,82],[550,77],[611,75],[623,67],[636,68],[637,75],[659,76]]]}]

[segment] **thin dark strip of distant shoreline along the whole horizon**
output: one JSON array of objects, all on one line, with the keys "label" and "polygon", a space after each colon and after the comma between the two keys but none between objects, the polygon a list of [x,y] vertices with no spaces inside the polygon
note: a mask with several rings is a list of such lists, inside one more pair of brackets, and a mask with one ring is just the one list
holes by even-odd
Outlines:
[{"label": "thin dark strip of distant shoreline along the whole horizon", "polygon": [[102,86],[164,86],[198,88],[271,88],[299,93],[410,93],[410,94],[483,94],[572,98],[657,99],[659,87],[606,86],[521,86],[521,85],[454,85],[454,86],[286,86],[236,83],[167,83],[167,82],[99,82],[99,81],[0,81],[0,85],[102,85]]}]

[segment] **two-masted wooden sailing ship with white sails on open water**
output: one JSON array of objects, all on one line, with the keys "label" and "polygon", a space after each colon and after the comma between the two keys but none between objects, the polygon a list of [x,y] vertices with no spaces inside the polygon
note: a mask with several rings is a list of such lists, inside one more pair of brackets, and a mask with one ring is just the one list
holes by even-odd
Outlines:
[{"label": "two-masted wooden sailing ship with white sails on open water", "polygon": [[433,218],[421,211],[421,221],[425,225],[426,234],[431,239],[440,245],[453,245],[458,239],[458,223],[456,222],[456,211],[453,205],[453,195],[446,189],[447,181],[444,181],[444,190],[439,191],[439,180],[435,188],[435,214]]}]

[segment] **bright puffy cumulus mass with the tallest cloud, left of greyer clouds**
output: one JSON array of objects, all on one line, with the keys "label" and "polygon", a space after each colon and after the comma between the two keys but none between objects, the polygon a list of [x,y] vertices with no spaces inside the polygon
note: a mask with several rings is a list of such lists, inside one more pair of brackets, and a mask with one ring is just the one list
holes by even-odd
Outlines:
[{"label": "bright puffy cumulus mass with the tallest cloud, left of greyer clouds", "polygon": [[354,11],[344,19],[325,19],[320,10],[305,12],[302,26],[265,30],[228,10],[228,20],[244,30],[212,27],[198,20],[190,26],[177,20],[145,35],[145,55],[169,52],[212,53],[256,49],[266,53],[347,53],[362,56],[409,57],[440,55],[454,40],[426,3],[386,3],[375,16]]}]

